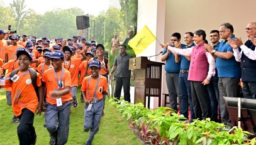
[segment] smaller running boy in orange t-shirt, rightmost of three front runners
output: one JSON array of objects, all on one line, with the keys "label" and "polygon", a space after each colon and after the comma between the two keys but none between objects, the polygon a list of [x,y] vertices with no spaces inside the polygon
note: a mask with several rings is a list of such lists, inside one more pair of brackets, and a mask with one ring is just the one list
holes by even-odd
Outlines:
[{"label": "smaller running boy in orange t-shirt, rightmost of three front runners", "polygon": [[82,81],[82,95],[86,102],[84,108],[84,131],[90,130],[86,144],[91,144],[92,140],[99,131],[99,121],[103,114],[104,100],[103,95],[108,95],[107,78],[99,75],[101,62],[92,60],[89,64],[89,69],[92,75],[87,76]]}]

